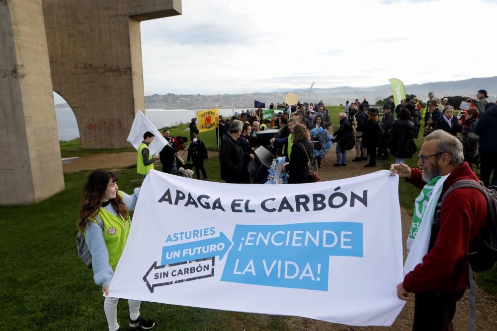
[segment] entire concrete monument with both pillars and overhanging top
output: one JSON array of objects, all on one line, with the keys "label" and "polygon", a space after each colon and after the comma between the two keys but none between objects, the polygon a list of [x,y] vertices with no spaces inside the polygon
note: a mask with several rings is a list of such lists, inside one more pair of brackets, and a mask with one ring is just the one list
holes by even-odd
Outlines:
[{"label": "entire concrete monument with both pillars and overhanging top", "polygon": [[0,205],[64,189],[52,91],[83,148],[130,146],[145,110],[140,21],[178,14],[180,0],[0,0]]}]

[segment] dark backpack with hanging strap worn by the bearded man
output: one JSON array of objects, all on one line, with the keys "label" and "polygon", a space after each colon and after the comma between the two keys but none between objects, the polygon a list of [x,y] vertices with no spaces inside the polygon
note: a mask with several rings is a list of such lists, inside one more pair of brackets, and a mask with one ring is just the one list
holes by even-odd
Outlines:
[{"label": "dark backpack with hanging strap worn by the bearded man", "polygon": [[469,330],[475,329],[475,277],[473,271],[486,271],[493,268],[497,263],[497,187],[486,188],[482,182],[478,184],[469,179],[462,179],[454,183],[444,194],[443,200],[455,189],[474,188],[479,190],[487,200],[487,222],[485,229],[477,239],[476,248],[473,252],[468,251],[469,261]]}]

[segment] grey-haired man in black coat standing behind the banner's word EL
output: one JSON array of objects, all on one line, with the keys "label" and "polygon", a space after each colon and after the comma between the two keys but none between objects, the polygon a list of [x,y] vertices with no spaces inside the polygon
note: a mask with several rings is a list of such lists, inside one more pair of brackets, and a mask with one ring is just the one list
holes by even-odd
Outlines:
[{"label": "grey-haired man in black coat standing behind the banner's word EL", "polygon": [[232,121],[229,132],[226,133],[219,147],[221,179],[226,183],[249,184],[247,163],[253,159],[253,154],[245,153],[240,146],[238,137],[242,134],[242,129],[242,121]]}]

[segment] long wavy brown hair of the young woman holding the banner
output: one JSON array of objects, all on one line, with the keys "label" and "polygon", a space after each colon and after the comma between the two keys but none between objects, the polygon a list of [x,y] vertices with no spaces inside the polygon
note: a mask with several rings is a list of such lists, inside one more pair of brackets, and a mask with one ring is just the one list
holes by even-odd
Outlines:
[{"label": "long wavy brown hair of the young woman holding the banner", "polygon": [[[88,176],[88,181],[83,189],[83,201],[77,223],[78,230],[83,232],[87,220],[96,216],[98,208],[102,205],[102,199],[109,180],[117,182],[117,176],[115,173],[106,170],[95,170]],[[122,218],[129,218],[128,208],[126,208],[119,194],[116,194],[116,197],[110,200],[110,204]]]}]

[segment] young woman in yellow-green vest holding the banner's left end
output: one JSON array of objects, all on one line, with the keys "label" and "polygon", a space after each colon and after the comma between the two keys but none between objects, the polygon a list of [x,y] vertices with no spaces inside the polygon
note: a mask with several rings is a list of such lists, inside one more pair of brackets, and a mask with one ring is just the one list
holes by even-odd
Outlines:
[{"label": "young woman in yellow-green vest holding the banner's left end", "polygon": [[[118,298],[111,298],[109,284],[128,238],[131,218],[128,210],[135,208],[140,188],[129,196],[118,191],[117,176],[113,172],[95,170],[83,189],[83,202],[78,218],[78,229],[84,233],[91,253],[95,283],[102,286],[106,297],[103,310],[110,331],[119,330],[117,323]],[[101,224],[101,225],[100,225]],[[152,329],[155,322],[140,316],[140,301],[128,300],[129,326]]]}]

